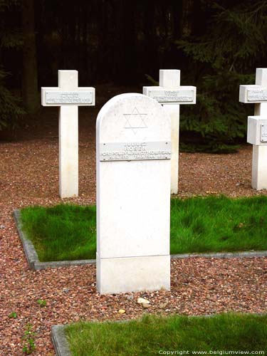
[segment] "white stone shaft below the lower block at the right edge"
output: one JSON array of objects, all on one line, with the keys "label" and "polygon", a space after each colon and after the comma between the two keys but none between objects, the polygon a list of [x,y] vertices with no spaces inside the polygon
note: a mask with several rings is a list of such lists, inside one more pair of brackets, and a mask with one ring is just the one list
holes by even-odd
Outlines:
[{"label": "white stone shaft below the lower block at the right edge", "polygon": [[267,146],[253,145],[251,181],[253,189],[267,189]]}]

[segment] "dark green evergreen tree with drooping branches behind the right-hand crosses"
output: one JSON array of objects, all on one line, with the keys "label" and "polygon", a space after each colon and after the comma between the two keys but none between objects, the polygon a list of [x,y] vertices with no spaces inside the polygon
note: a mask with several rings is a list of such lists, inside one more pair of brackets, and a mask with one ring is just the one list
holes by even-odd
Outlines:
[{"label": "dark green evergreen tree with drooping branches behind the right-hand crosses", "polygon": [[201,149],[228,152],[246,137],[247,110],[253,110],[239,103],[239,85],[253,84],[256,67],[266,67],[267,2],[213,5],[209,11],[204,34],[177,41],[190,58],[199,93],[197,105],[183,110],[181,131],[201,137]]}]

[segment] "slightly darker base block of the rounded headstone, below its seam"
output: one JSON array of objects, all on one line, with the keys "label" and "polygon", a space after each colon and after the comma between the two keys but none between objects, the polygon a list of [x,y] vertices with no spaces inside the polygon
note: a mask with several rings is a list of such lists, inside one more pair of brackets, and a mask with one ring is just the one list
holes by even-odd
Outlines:
[{"label": "slightly darker base block of the rounded headstone, below its seam", "polygon": [[170,256],[100,258],[96,255],[100,294],[170,290]]}]

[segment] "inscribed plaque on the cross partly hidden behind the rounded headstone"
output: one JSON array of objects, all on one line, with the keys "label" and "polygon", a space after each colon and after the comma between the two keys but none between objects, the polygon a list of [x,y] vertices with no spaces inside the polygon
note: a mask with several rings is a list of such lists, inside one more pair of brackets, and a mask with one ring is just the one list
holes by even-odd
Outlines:
[{"label": "inscribed plaque on the cross partly hidden behind the rounded headstone", "polygon": [[194,90],[151,90],[150,98],[158,103],[193,102]]}]

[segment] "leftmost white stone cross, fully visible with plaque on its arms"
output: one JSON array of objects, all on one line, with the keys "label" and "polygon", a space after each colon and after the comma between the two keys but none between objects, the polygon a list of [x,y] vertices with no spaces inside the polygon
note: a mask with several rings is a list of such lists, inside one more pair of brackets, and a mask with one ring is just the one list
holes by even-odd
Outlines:
[{"label": "leftmost white stone cross, fully visible with plaque on its arms", "polygon": [[58,70],[58,88],[41,88],[43,106],[59,106],[59,194],[78,196],[78,106],[95,105],[95,88],[78,87],[77,70]]}]

